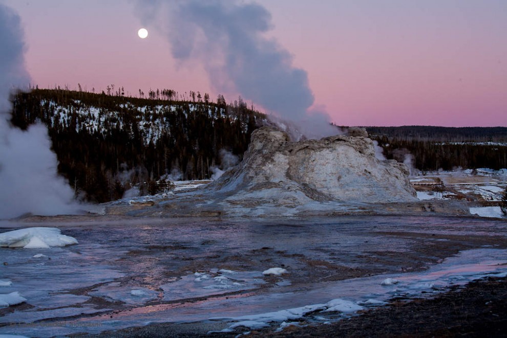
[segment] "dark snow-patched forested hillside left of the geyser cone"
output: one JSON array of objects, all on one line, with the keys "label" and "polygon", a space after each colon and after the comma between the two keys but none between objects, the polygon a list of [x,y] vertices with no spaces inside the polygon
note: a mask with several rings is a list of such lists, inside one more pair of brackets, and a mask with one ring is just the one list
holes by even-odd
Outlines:
[{"label": "dark snow-patched forested hillside left of the geyser cone", "polygon": [[153,188],[161,177],[209,178],[224,151],[241,159],[264,119],[241,97],[227,104],[221,95],[212,102],[191,91],[189,100],[177,101],[183,96],[171,89],[139,96],[125,97],[114,86],[101,94],[34,88],[12,97],[11,122],[22,129],[46,124],[58,171],[76,194],[104,202],[138,183]]}]

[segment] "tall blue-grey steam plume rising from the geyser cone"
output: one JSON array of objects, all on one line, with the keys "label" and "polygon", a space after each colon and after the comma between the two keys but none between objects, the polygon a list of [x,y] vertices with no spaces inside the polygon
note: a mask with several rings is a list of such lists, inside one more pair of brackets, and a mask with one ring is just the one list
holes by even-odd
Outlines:
[{"label": "tall blue-grey steam plume rising from the geyser cone", "polygon": [[167,36],[176,59],[204,65],[218,92],[239,92],[293,121],[306,137],[337,133],[327,114],[309,111],[314,98],[306,71],[265,37],[272,25],[264,7],[236,0],[149,0],[137,7],[143,25]]}]

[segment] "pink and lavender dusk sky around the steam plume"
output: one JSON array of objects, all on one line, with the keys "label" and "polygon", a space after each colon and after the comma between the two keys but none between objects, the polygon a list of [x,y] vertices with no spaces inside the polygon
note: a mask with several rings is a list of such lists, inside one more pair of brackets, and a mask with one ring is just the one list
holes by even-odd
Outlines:
[{"label": "pink and lavender dusk sky around the steam plume", "polygon": [[[241,94],[214,93],[203,66],[175,60],[155,25],[149,39],[133,34],[145,24],[132,0],[3,3],[22,18],[39,87]],[[507,1],[256,3],[271,13],[267,35],[308,72],[315,107],[336,124],[507,126]]]}]

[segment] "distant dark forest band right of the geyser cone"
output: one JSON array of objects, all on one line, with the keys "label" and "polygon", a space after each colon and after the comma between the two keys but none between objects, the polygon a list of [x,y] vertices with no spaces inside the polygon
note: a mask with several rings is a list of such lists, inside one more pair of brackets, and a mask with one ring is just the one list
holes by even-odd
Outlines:
[{"label": "distant dark forest band right of the geyser cone", "polygon": [[505,127],[366,127],[370,137],[384,149],[388,159],[403,162],[413,155],[421,171],[507,168]]}]

